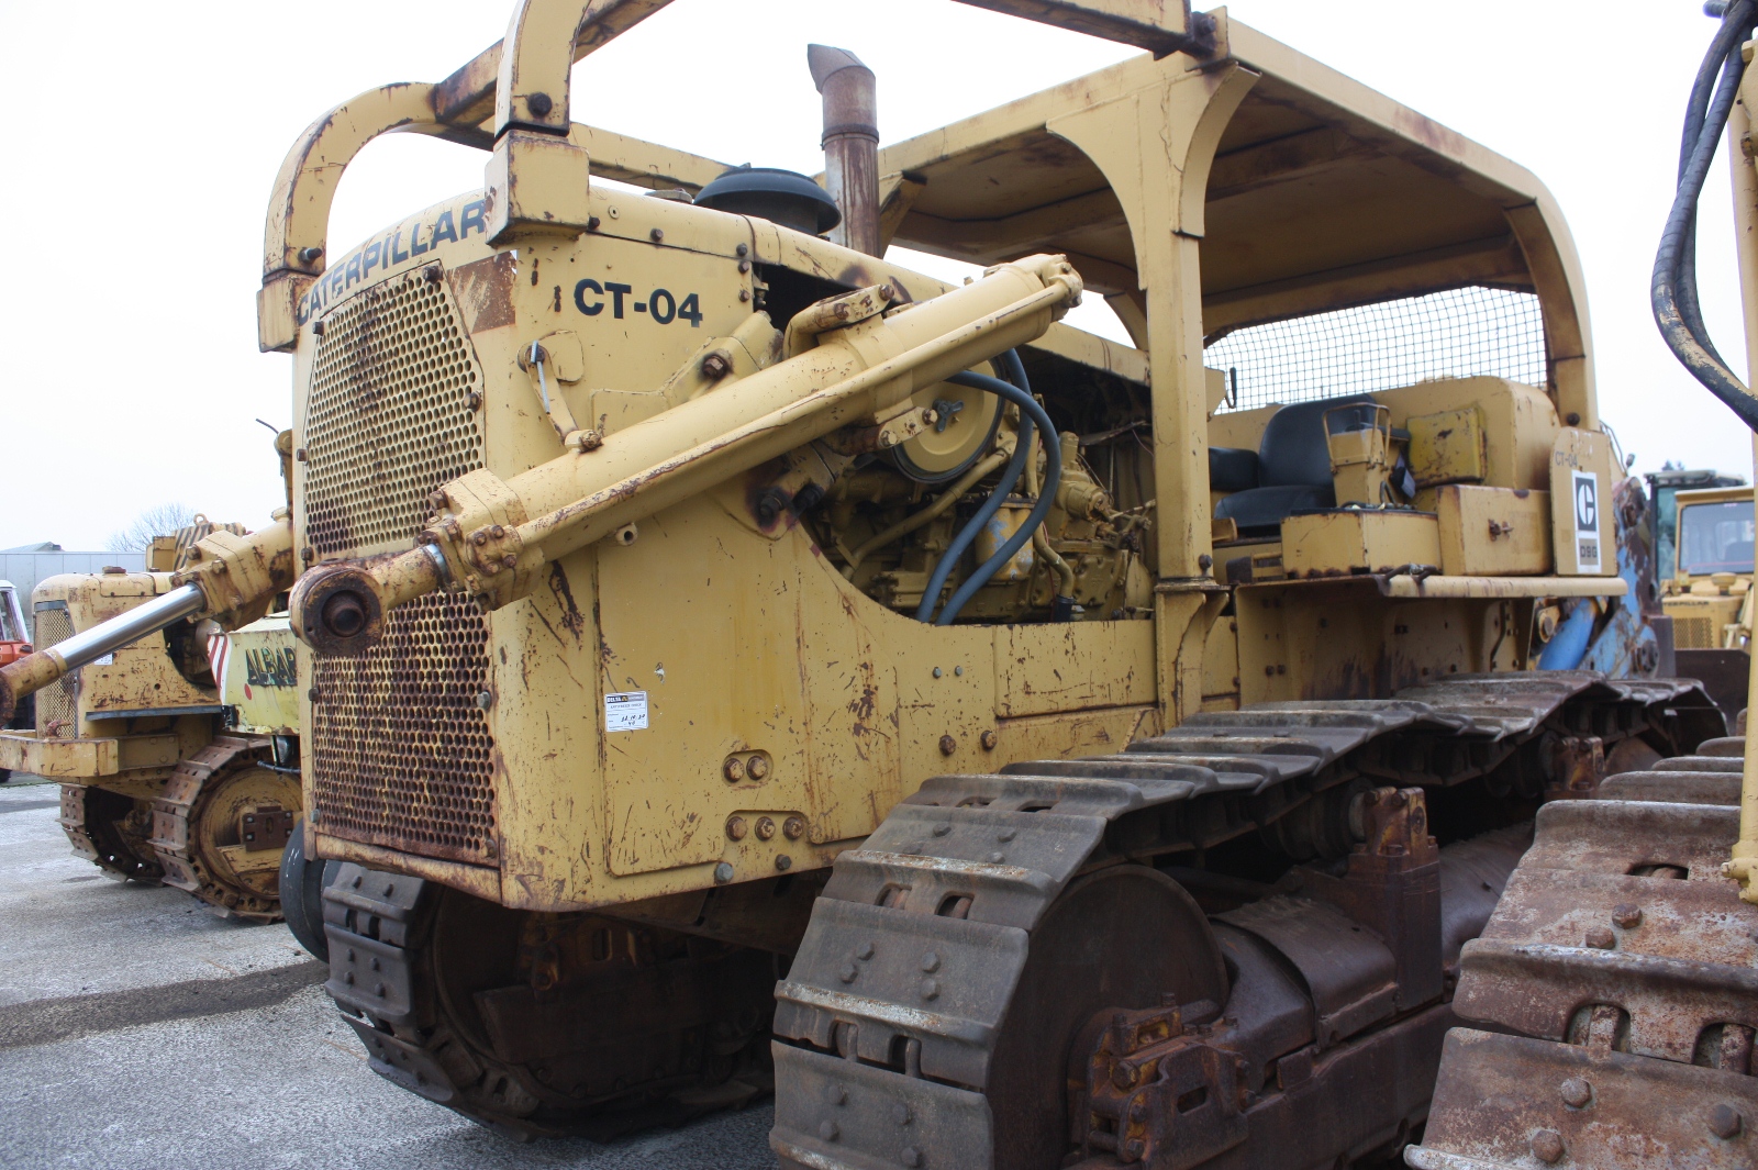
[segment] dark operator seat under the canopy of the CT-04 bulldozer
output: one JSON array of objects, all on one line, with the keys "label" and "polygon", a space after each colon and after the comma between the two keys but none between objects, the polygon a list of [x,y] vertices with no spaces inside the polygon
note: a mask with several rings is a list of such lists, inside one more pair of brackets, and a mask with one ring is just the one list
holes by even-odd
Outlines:
[{"label": "dark operator seat under the canopy of the CT-04 bulldozer", "polygon": [[[1338,406],[1371,402],[1368,394],[1296,402],[1269,416],[1255,451],[1211,446],[1210,488],[1231,492],[1215,504],[1215,518],[1232,520],[1241,536],[1276,536],[1296,511],[1336,508],[1324,415]],[[1343,422],[1338,429],[1355,420]]]}]

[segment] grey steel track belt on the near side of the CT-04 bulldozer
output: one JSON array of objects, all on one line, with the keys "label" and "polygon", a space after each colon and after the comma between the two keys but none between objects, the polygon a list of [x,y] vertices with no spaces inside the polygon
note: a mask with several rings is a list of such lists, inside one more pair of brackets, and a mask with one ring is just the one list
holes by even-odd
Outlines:
[{"label": "grey steel track belt on the near side of the CT-04 bulldozer", "polygon": [[[1547,733],[1598,733],[1605,748],[1677,734],[1679,706],[1709,701],[1668,680],[1459,676],[1391,701],[1197,715],[1120,755],[933,778],[839,857],[777,986],[770,1145],[812,1170],[1000,1165],[1011,1119],[984,1089],[1034,929],[1078,875],[1268,826],[1354,776],[1459,784],[1517,769]],[[1403,1021],[1438,1047],[1442,1017]],[[1246,1123],[1278,1096],[1266,1084]],[[1426,1086],[1417,1098],[1391,1107],[1420,1121]],[[1088,1149],[1081,1165],[1127,1159]]]}]

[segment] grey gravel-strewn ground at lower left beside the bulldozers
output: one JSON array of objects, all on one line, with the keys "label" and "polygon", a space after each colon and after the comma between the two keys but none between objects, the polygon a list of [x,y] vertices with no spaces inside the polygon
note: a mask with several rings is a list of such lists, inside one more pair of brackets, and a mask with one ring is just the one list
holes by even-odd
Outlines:
[{"label": "grey gravel-strewn ground at lower left beside the bulldozers", "polygon": [[768,1107],[520,1145],[404,1093],[285,928],[100,877],[56,815],[54,785],[0,785],[0,1166],[774,1166]]}]

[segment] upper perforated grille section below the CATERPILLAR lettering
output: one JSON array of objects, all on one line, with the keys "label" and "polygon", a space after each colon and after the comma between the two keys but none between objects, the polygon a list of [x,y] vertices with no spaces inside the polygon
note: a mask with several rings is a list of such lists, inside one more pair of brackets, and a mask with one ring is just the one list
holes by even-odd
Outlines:
[{"label": "upper perforated grille section below the CATERPILLAR lettering", "polygon": [[480,390],[443,279],[415,272],[343,302],[311,372],[306,543],[329,557],[420,532],[427,495],[482,466]]}]

